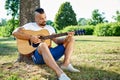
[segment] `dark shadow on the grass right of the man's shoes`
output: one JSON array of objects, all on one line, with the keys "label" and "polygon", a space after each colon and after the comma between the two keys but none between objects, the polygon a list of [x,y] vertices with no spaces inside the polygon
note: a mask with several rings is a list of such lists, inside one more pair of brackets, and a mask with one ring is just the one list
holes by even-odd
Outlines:
[{"label": "dark shadow on the grass right of the man's shoes", "polygon": [[75,66],[80,69],[80,73],[69,73],[65,71],[72,80],[120,80],[120,74],[96,69],[95,67]]}]

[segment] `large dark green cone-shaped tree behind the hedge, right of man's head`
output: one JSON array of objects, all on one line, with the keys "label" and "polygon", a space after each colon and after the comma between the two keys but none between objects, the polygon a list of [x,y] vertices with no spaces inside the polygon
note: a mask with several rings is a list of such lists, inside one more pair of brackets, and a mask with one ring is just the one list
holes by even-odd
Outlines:
[{"label": "large dark green cone-shaped tree behind the hedge, right of man's head", "polygon": [[63,3],[55,16],[55,27],[61,30],[69,25],[77,25],[76,14],[70,5],[70,2]]}]

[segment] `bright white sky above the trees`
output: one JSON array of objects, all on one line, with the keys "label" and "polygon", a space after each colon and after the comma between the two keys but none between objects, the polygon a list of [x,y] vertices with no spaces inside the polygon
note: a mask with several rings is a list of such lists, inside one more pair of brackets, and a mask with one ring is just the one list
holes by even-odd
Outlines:
[{"label": "bright white sky above the trees", "polygon": [[[76,13],[77,20],[79,18],[91,18],[91,13],[95,9],[99,9],[99,12],[105,13],[105,17],[109,21],[112,20],[112,16],[116,15],[116,11],[120,11],[120,0],[40,0],[40,6],[44,8],[47,19],[54,21],[55,15],[58,12],[61,4],[64,2],[70,2],[74,12]],[[0,0],[0,18],[9,19],[7,11],[4,9],[5,0]]]}]

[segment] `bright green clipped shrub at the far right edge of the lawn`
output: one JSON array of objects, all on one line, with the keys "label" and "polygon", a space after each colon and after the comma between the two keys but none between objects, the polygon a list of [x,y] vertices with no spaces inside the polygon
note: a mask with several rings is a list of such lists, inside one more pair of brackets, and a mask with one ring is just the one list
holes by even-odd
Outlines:
[{"label": "bright green clipped shrub at the far right edge of the lawn", "polygon": [[120,36],[120,23],[104,23],[95,26],[94,35],[97,36]]}]

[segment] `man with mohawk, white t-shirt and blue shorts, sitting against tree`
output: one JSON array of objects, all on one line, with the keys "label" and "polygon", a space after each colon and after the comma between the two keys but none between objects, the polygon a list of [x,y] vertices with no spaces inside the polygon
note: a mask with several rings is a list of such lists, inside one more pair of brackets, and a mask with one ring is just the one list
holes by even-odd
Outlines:
[{"label": "man with mohawk, white t-shirt and blue shorts, sitting against tree", "polygon": [[[35,22],[27,23],[24,26],[13,31],[13,35],[18,39],[29,40],[31,43],[39,43],[37,49],[32,54],[32,59],[35,64],[46,64],[53,71],[55,71],[58,80],[70,80],[70,78],[63,72],[62,69],[66,69],[71,72],[79,72],[70,64],[70,57],[73,52],[73,32],[69,32],[65,39],[52,38],[52,40],[58,44],[55,48],[48,47],[38,36],[26,34],[23,30],[38,31],[46,29],[50,35],[55,34],[53,27],[46,25],[46,14],[42,8],[35,10]],[[56,61],[64,55],[63,64],[59,67]]]}]

